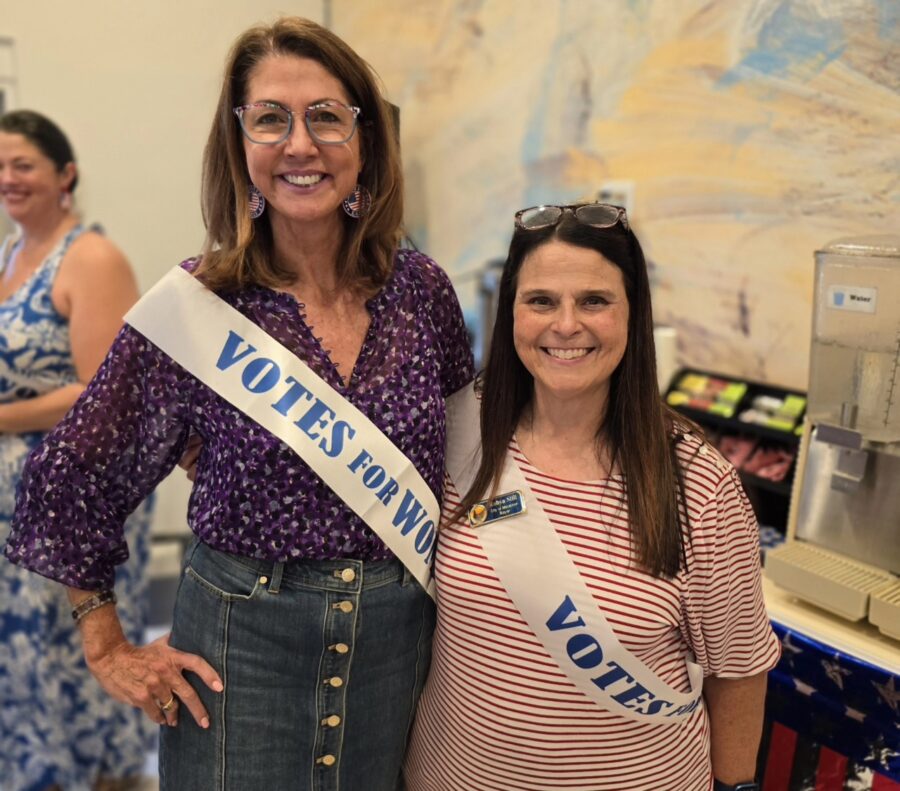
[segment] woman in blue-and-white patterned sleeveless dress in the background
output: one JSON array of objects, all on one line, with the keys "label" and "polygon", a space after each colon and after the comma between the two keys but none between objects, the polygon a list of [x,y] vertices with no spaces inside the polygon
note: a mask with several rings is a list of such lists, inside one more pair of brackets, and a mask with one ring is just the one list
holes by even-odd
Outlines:
[{"label": "woman in blue-and-white patterned sleeveless dress in the background", "polygon": [[[82,222],[78,166],[46,116],[0,116],[0,542],[28,454],[84,391],[137,299],[122,252]],[[122,624],[144,629],[150,506],[125,532]],[[38,539],[40,542],[40,539]],[[0,787],[111,791],[144,766],[149,728],[88,673],[62,586],[0,560]],[[90,734],[85,738],[85,734]]]}]

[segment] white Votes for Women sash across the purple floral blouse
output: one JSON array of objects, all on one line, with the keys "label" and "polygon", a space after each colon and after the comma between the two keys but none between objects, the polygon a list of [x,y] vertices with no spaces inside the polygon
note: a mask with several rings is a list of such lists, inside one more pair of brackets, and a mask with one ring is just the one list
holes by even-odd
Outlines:
[{"label": "white Votes for Women sash across the purple floral blouse", "polygon": [[296,451],[434,596],[440,505],[413,463],[371,420],[181,267],[150,289],[125,321]]}]

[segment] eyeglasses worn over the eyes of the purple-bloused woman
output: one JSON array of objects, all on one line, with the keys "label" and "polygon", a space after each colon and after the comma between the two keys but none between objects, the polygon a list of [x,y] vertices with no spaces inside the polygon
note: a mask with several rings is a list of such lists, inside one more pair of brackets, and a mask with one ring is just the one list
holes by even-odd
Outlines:
[{"label": "eyeglasses worn over the eyes of the purple-bloused woman", "polygon": [[359,107],[329,100],[305,110],[289,110],[277,102],[255,102],[235,107],[244,136],[251,143],[273,146],[287,140],[294,129],[294,116],[302,115],[309,136],[319,145],[338,146],[356,132]]}]

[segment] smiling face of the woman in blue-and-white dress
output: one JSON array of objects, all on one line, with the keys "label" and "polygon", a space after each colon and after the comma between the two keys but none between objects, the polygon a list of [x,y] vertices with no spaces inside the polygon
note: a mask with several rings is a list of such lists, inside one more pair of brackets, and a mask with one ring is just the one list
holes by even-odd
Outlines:
[{"label": "smiling face of the woman in blue-and-white dress", "polygon": [[0,132],[0,203],[13,222],[27,226],[60,211],[60,195],[74,169],[69,164],[60,172],[27,137]]}]

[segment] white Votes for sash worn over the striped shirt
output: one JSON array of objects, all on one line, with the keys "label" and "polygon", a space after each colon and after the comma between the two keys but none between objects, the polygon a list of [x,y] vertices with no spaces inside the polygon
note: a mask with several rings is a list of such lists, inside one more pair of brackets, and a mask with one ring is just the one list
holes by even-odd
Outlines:
[{"label": "white Votes for sash worn over the striped shirt", "polygon": [[[473,387],[447,400],[447,472],[465,494],[481,461]],[[522,471],[507,459],[500,493],[526,510],[477,530],[497,576],[560,669],[604,709],[638,722],[680,724],[700,704],[702,668],[685,657],[691,691],[677,692],[619,643]]]}]

